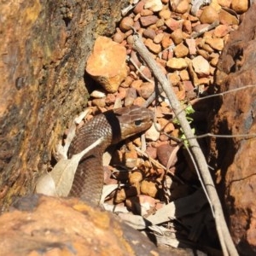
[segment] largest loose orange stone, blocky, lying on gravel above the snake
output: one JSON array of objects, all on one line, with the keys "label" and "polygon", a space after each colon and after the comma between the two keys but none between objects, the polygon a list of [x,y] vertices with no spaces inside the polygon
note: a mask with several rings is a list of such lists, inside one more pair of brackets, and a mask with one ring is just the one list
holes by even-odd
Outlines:
[{"label": "largest loose orange stone, blocky, lying on gravel above the snake", "polygon": [[90,55],[86,72],[108,92],[115,92],[127,76],[126,49],[110,38],[98,37]]}]

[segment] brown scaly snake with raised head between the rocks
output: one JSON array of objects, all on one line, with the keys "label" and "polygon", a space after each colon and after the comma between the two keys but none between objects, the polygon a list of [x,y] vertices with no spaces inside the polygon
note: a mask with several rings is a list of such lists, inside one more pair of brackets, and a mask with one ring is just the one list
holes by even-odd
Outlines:
[{"label": "brown scaly snake with raised head between the rocks", "polygon": [[153,124],[153,119],[154,114],[148,108],[131,106],[109,110],[85,123],[73,138],[68,158],[78,154],[98,138],[104,137],[104,140],[79,162],[69,195],[98,205],[103,189],[102,154],[108,146],[146,131]]}]

